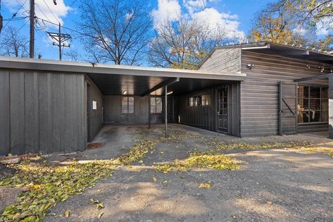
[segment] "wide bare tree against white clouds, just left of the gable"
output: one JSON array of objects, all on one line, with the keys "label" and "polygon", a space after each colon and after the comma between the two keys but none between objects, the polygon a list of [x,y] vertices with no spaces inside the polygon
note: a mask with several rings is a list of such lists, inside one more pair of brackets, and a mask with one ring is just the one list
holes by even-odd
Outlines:
[{"label": "wide bare tree against white clouds, just left of the gable", "polygon": [[195,20],[178,19],[160,24],[150,44],[149,61],[156,67],[197,69],[217,44],[227,41],[223,28]]}]

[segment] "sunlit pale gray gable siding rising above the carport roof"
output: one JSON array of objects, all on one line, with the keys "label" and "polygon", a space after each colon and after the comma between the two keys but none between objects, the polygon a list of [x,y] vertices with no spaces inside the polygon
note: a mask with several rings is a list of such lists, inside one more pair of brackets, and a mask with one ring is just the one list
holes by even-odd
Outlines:
[{"label": "sunlit pale gray gable siding rising above the carport roof", "polygon": [[201,65],[199,70],[205,71],[241,71],[241,49],[217,49],[212,55]]}]

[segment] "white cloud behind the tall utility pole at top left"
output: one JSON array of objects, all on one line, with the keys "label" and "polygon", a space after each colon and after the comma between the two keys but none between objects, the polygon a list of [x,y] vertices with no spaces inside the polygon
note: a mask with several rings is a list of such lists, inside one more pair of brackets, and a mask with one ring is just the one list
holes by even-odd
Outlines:
[{"label": "white cloud behind the tall utility pole at top left", "polygon": [[[7,6],[11,12],[16,12],[23,3],[23,0],[9,1]],[[29,10],[30,3],[29,1],[26,1],[19,13],[28,15]],[[35,0],[35,15],[41,19],[45,19],[56,24],[59,22],[64,24],[62,18],[67,16],[69,10],[71,10],[71,7],[66,6],[64,0],[57,0],[57,5],[54,5],[53,1],[50,0]],[[17,17],[19,16],[21,15],[17,15]]]}]

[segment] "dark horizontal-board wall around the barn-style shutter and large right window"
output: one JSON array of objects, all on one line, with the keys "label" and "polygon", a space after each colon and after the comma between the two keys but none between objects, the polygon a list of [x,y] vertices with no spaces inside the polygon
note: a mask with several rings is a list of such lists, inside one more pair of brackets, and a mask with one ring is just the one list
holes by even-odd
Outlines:
[{"label": "dark horizontal-board wall around the barn-style shutter and large right window", "polygon": [[[267,53],[243,50],[241,64],[241,71],[247,74],[247,79],[241,82],[241,136],[244,137],[278,135],[280,81],[292,83],[296,78],[323,74],[316,62],[279,56],[271,50]],[[247,64],[255,67],[248,69]],[[300,84],[327,85],[327,80]],[[308,130],[328,130],[328,125],[302,126],[298,133]]]}]

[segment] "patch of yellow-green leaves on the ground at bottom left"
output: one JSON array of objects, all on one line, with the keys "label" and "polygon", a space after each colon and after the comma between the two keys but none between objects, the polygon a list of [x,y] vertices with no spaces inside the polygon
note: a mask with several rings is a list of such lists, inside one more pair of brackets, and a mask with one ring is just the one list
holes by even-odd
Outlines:
[{"label": "patch of yellow-green leaves on the ground at bottom left", "polygon": [[47,210],[70,196],[82,194],[96,180],[112,175],[113,161],[94,161],[87,164],[49,167],[44,162],[28,160],[12,166],[17,173],[0,182],[0,186],[26,187],[15,203],[8,205],[1,221],[42,221]]}]

